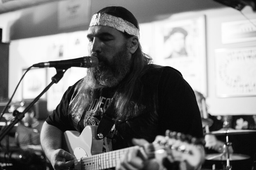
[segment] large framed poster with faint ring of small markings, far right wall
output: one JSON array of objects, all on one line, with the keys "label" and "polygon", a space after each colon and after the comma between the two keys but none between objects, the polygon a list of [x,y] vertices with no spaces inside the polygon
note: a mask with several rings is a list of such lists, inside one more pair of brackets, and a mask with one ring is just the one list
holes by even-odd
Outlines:
[{"label": "large framed poster with faint ring of small markings, far right wall", "polygon": [[216,49],[218,97],[256,96],[256,47]]}]

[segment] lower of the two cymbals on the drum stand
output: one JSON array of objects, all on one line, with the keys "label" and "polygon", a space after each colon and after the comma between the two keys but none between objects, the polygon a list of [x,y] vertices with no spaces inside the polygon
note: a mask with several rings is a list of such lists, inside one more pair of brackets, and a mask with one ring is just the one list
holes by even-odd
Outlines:
[{"label": "lower of the two cymbals on the drum stand", "polygon": [[[249,159],[250,156],[238,154],[238,153],[230,153],[229,160],[245,160]],[[223,153],[211,153],[205,155],[206,160],[227,160],[227,154]]]}]

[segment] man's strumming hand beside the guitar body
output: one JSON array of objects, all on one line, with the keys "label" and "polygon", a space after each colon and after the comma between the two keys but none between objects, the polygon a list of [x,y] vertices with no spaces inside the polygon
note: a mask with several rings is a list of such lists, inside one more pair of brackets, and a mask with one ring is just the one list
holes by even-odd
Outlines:
[{"label": "man's strumming hand beside the guitar body", "polygon": [[57,149],[52,152],[50,162],[55,170],[68,169],[74,164],[74,156],[63,149]]}]

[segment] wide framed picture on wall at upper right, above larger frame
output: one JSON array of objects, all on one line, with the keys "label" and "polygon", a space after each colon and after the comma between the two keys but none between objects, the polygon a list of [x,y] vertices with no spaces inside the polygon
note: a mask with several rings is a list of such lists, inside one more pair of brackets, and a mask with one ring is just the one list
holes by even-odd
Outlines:
[{"label": "wide framed picture on wall at upper right, above larger frame", "polygon": [[256,19],[224,22],[221,24],[223,44],[256,41]]}]

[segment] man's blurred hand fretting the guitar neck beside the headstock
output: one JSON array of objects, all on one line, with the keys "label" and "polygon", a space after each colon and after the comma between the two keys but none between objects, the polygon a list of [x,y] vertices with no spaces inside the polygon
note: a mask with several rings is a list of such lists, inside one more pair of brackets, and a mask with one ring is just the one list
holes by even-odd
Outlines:
[{"label": "man's blurred hand fretting the guitar neck beside the headstock", "polygon": [[126,154],[120,159],[120,163],[118,163],[115,167],[116,170],[137,170],[137,169],[149,169],[149,170],[158,170],[158,163],[152,160],[143,160],[140,156],[138,156],[140,146],[148,143],[145,139],[133,139],[134,145],[138,145],[133,149],[127,151]]}]

